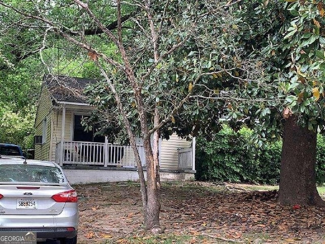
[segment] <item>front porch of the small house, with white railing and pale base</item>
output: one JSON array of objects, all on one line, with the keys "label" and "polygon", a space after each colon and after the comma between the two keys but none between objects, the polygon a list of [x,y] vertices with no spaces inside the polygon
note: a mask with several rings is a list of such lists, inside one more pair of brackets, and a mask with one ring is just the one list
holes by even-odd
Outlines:
[{"label": "front porch of the small house, with white railing and pale base", "polygon": [[[131,145],[111,143],[106,136],[96,136],[94,128],[84,131],[81,120],[89,114],[86,108],[80,104],[66,104],[56,110],[51,160],[62,166],[72,184],[138,180]],[[136,138],[136,142],[146,177],[143,142],[141,138]],[[159,140],[161,180],[194,178],[195,143],[195,138],[188,141],[176,134],[169,140]]]}]

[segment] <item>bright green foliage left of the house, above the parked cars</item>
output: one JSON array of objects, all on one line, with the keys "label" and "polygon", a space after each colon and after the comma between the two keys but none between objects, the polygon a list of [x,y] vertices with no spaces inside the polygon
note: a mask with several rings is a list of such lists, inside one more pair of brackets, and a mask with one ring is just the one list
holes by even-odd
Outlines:
[{"label": "bright green foliage left of the house, above the parked cars", "polygon": [[41,86],[38,62],[28,58],[0,71],[0,142],[34,147],[36,103]]}]

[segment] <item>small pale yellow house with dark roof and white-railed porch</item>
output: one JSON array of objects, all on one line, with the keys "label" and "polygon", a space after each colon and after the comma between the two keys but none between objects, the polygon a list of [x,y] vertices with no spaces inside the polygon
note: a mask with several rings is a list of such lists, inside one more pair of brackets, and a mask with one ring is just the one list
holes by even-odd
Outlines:
[{"label": "small pale yellow house with dark roof and white-railed porch", "polygon": [[[105,136],[85,132],[81,119],[93,110],[82,97],[91,79],[45,75],[35,119],[35,159],[61,165],[70,182],[137,180],[130,145],[109,143]],[[144,172],[143,144],[137,139]],[[195,138],[186,141],[172,135],[160,140],[161,180],[186,180],[195,173]]]}]

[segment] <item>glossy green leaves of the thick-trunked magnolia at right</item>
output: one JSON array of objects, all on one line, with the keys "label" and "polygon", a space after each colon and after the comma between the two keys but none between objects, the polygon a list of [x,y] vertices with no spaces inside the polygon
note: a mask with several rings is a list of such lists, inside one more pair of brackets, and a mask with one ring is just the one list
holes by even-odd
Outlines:
[{"label": "glossy green leaves of the thick-trunked magnolia at right", "polygon": [[[229,118],[254,128],[253,143],[281,137],[283,117],[295,114],[309,130],[324,128],[323,1],[244,1],[234,11],[237,45],[260,62],[261,78],[240,79]],[[235,8],[235,7],[234,7]],[[237,111],[237,112],[236,112]],[[235,117],[231,116],[234,112]]]}]

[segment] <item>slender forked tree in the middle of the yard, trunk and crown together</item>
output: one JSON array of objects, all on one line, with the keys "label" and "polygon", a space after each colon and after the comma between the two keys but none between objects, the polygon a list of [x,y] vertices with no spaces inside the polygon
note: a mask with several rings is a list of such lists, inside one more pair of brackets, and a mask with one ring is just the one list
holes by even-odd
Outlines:
[{"label": "slender forked tree in the middle of the yard, trunk and crown together", "polygon": [[[100,82],[88,88],[90,102],[99,120],[106,121],[103,131],[117,128],[134,150],[147,229],[160,230],[160,136],[173,131],[186,136],[205,125],[217,129],[224,101],[236,99],[227,91],[233,77],[259,76],[255,61],[240,58],[241,50],[234,45],[238,28],[230,7],[235,3],[0,1],[14,25],[38,34],[29,53],[37,51],[44,64],[47,49],[68,46],[69,55],[88,56],[100,71]],[[206,99],[209,92],[222,99]],[[138,135],[143,139],[146,179]]]}]

